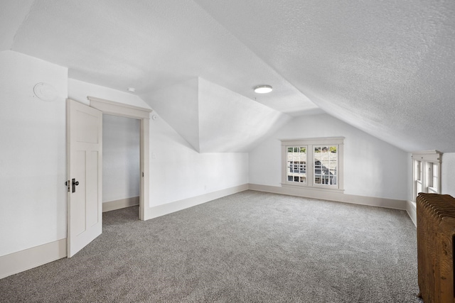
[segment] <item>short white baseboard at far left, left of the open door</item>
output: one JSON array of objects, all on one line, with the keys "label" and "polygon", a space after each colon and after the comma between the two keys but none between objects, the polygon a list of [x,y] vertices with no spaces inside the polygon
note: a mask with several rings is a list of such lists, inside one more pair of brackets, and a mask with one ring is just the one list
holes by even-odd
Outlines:
[{"label": "short white baseboard at far left, left of the open door", "polygon": [[0,257],[0,279],[66,257],[66,238]]}]

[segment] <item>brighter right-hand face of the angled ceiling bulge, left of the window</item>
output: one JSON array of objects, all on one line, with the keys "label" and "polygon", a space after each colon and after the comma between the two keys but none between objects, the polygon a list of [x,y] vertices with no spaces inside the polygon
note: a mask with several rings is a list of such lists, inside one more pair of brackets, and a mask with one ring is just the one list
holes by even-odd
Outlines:
[{"label": "brighter right-hand face of the angled ceiling bulge, left of the window", "polygon": [[248,152],[290,119],[287,114],[199,78],[201,152]]}]

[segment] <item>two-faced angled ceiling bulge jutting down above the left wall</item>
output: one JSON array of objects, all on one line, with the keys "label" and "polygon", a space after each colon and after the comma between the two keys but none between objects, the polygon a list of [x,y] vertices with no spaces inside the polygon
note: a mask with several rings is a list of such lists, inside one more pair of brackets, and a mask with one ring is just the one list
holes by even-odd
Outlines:
[{"label": "two-faced angled ceiling bulge jutting down above the left wall", "polygon": [[248,152],[291,119],[200,77],[159,89],[146,100],[199,153]]}]

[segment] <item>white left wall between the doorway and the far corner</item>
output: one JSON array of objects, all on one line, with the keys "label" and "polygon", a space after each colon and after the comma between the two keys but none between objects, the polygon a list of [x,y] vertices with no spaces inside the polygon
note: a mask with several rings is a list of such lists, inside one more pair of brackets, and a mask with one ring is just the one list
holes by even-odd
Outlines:
[{"label": "white left wall between the doorway and the far corner", "polygon": [[247,153],[198,153],[159,113],[150,121],[150,206],[248,183]]}]

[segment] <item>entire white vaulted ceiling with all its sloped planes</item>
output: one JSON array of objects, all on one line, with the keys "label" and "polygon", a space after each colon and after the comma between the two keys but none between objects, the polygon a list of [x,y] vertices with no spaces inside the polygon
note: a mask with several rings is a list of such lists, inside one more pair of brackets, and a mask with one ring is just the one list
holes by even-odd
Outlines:
[{"label": "entire white vaulted ceiling with all its sloped planes", "polygon": [[[291,116],[321,112],[403,150],[455,152],[453,0],[6,0],[0,7],[0,50],[63,65],[73,79],[135,87],[201,152],[245,151]],[[185,83],[196,85],[193,99],[173,90]],[[274,91],[255,94],[258,84]],[[193,115],[175,110],[172,118],[178,106]]]}]

